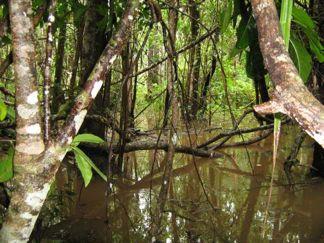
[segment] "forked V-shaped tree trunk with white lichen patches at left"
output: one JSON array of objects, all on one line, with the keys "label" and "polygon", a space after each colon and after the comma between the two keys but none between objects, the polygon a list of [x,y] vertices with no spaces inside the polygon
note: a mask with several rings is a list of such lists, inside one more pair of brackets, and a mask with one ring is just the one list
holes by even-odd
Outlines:
[{"label": "forked V-shaped tree trunk with white lichen patches at left", "polygon": [[[111,65],[128,41],[138,1],[129,1],[119,30],[94,67],[58,137],[44,150],[37,99],[31,1],[10,1],[17,86],[17,144],[14,191],[0,242],[27,242],[68,146],[97,96]],[[23,82],[22,82],[23,81]]]}]

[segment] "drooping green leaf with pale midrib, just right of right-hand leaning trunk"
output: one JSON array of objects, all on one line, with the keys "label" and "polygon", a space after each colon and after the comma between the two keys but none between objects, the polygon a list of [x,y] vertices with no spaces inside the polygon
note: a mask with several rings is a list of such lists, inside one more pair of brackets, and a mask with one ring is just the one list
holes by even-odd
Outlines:
[{"label": "drooping green leaf with pale midrib, just right of right-hand leaning trunk", "polygon": [[[299,75],[304,82],[307,82],[312,70],[312,57],[304,47],[303,43],[295,37],[290,38],[293,61],[298,68]],[[294,58],[295,57],[295,58]]]}]

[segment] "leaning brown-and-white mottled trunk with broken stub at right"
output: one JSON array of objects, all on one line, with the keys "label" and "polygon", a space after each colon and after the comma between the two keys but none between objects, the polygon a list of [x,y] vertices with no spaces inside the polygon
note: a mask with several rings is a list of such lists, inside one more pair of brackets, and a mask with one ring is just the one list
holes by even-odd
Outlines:
[{"label": "leaning brown-and-white mottled trunk with broken stub at right", "polygon": [[265,67],[275,86],[271,100],[255,106],[255,110],[262,114],[288,115],[324,147],[324,106],[304,86],[286,51],[274,1],[252,0],[251,3]]}]

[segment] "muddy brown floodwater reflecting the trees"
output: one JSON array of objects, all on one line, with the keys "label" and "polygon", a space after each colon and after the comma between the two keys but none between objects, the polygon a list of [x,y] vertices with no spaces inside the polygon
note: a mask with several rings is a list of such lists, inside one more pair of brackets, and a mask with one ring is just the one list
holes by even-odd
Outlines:
[{"label": "muddy brown floodwater reflecting the trees", "polygon": [[[282,134],[269,207],[271,137],[246,148],[224,149],[226,156],[221,159],[176,155],[162,222],[163,241],[324,242],[324,183],[308,176],[310,141],[304,142],[300,164],[292,169],[292,185],[283,170],[295,131]],[[151,213],[157,207],[162,176],[161,171],[150,174],[153,157],[153,151],[129,153],[123,177],[107,185],[96,176],[87,188],[75,167],[66,163],[42,212],[43,226],[38,227],[36,238],[40,242],[151,242]],[[163,164],[163,152],[156,163]],[[107,187],[112,190],[109,196]]]}]

